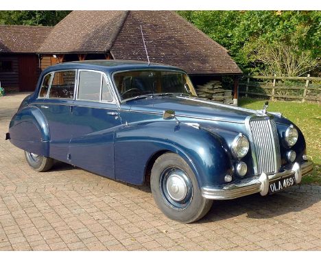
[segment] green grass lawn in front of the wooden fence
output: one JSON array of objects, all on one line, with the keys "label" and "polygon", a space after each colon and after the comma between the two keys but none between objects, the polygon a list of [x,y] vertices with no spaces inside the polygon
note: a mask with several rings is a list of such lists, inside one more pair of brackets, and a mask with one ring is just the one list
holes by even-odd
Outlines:
[{"label": "green grass lawn in front of the wooden fence", "polygon": [[[250,109],[262,109],[261,99],[241,98],[239,106]],[[307,154],[315,164],[313,174],[302,178],[304,184],[321,185],[321,105],[288,101],[269,101],[270,112],[282,112],[305,135]]]}]

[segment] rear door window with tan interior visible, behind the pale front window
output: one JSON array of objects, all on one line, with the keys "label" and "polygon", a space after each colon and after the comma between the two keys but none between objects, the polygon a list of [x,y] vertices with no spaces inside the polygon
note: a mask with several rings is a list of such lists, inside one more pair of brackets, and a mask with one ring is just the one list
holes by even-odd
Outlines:
[{"label": "rear door window with tan interior visible, behind the pale front window", "polygon": [[58,71],[53,75],[49,98],[73,99],[75,71]]}]

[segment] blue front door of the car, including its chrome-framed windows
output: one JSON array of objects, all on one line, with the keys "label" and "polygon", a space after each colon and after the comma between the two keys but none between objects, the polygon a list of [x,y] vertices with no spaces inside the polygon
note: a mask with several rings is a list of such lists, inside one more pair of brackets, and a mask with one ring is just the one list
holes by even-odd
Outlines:
[{"label": "blue front door of the car, including its chrome-framed windows", "polygon": [[115,178],[114,136],[121,126],[119,110],[108,78],[100,71],[80,70],[70,142],[71,163]]}]

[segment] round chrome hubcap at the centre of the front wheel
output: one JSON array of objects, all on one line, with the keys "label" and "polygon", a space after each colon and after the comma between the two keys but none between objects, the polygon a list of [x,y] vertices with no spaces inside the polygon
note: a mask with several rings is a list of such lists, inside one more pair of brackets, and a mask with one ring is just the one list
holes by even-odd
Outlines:
[{"label": "round chrome hubcap at the centre of the front wheel", "polygon": [[184,178],[177,174],[171,174],[167,178],[166,188],[169,196],[175,201],[181,201],[187,195],[187,184]]}]

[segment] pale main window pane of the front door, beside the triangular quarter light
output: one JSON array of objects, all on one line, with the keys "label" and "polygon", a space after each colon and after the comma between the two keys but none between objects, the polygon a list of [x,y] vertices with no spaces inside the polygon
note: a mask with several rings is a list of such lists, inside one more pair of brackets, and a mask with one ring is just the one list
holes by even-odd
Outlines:
[{"label": "pale main window pane of the front door, beside the triangular quarter light", "polygon": [[79,72],[78,99],[99,101],[102,87],[102,73],[93,71]]}]

